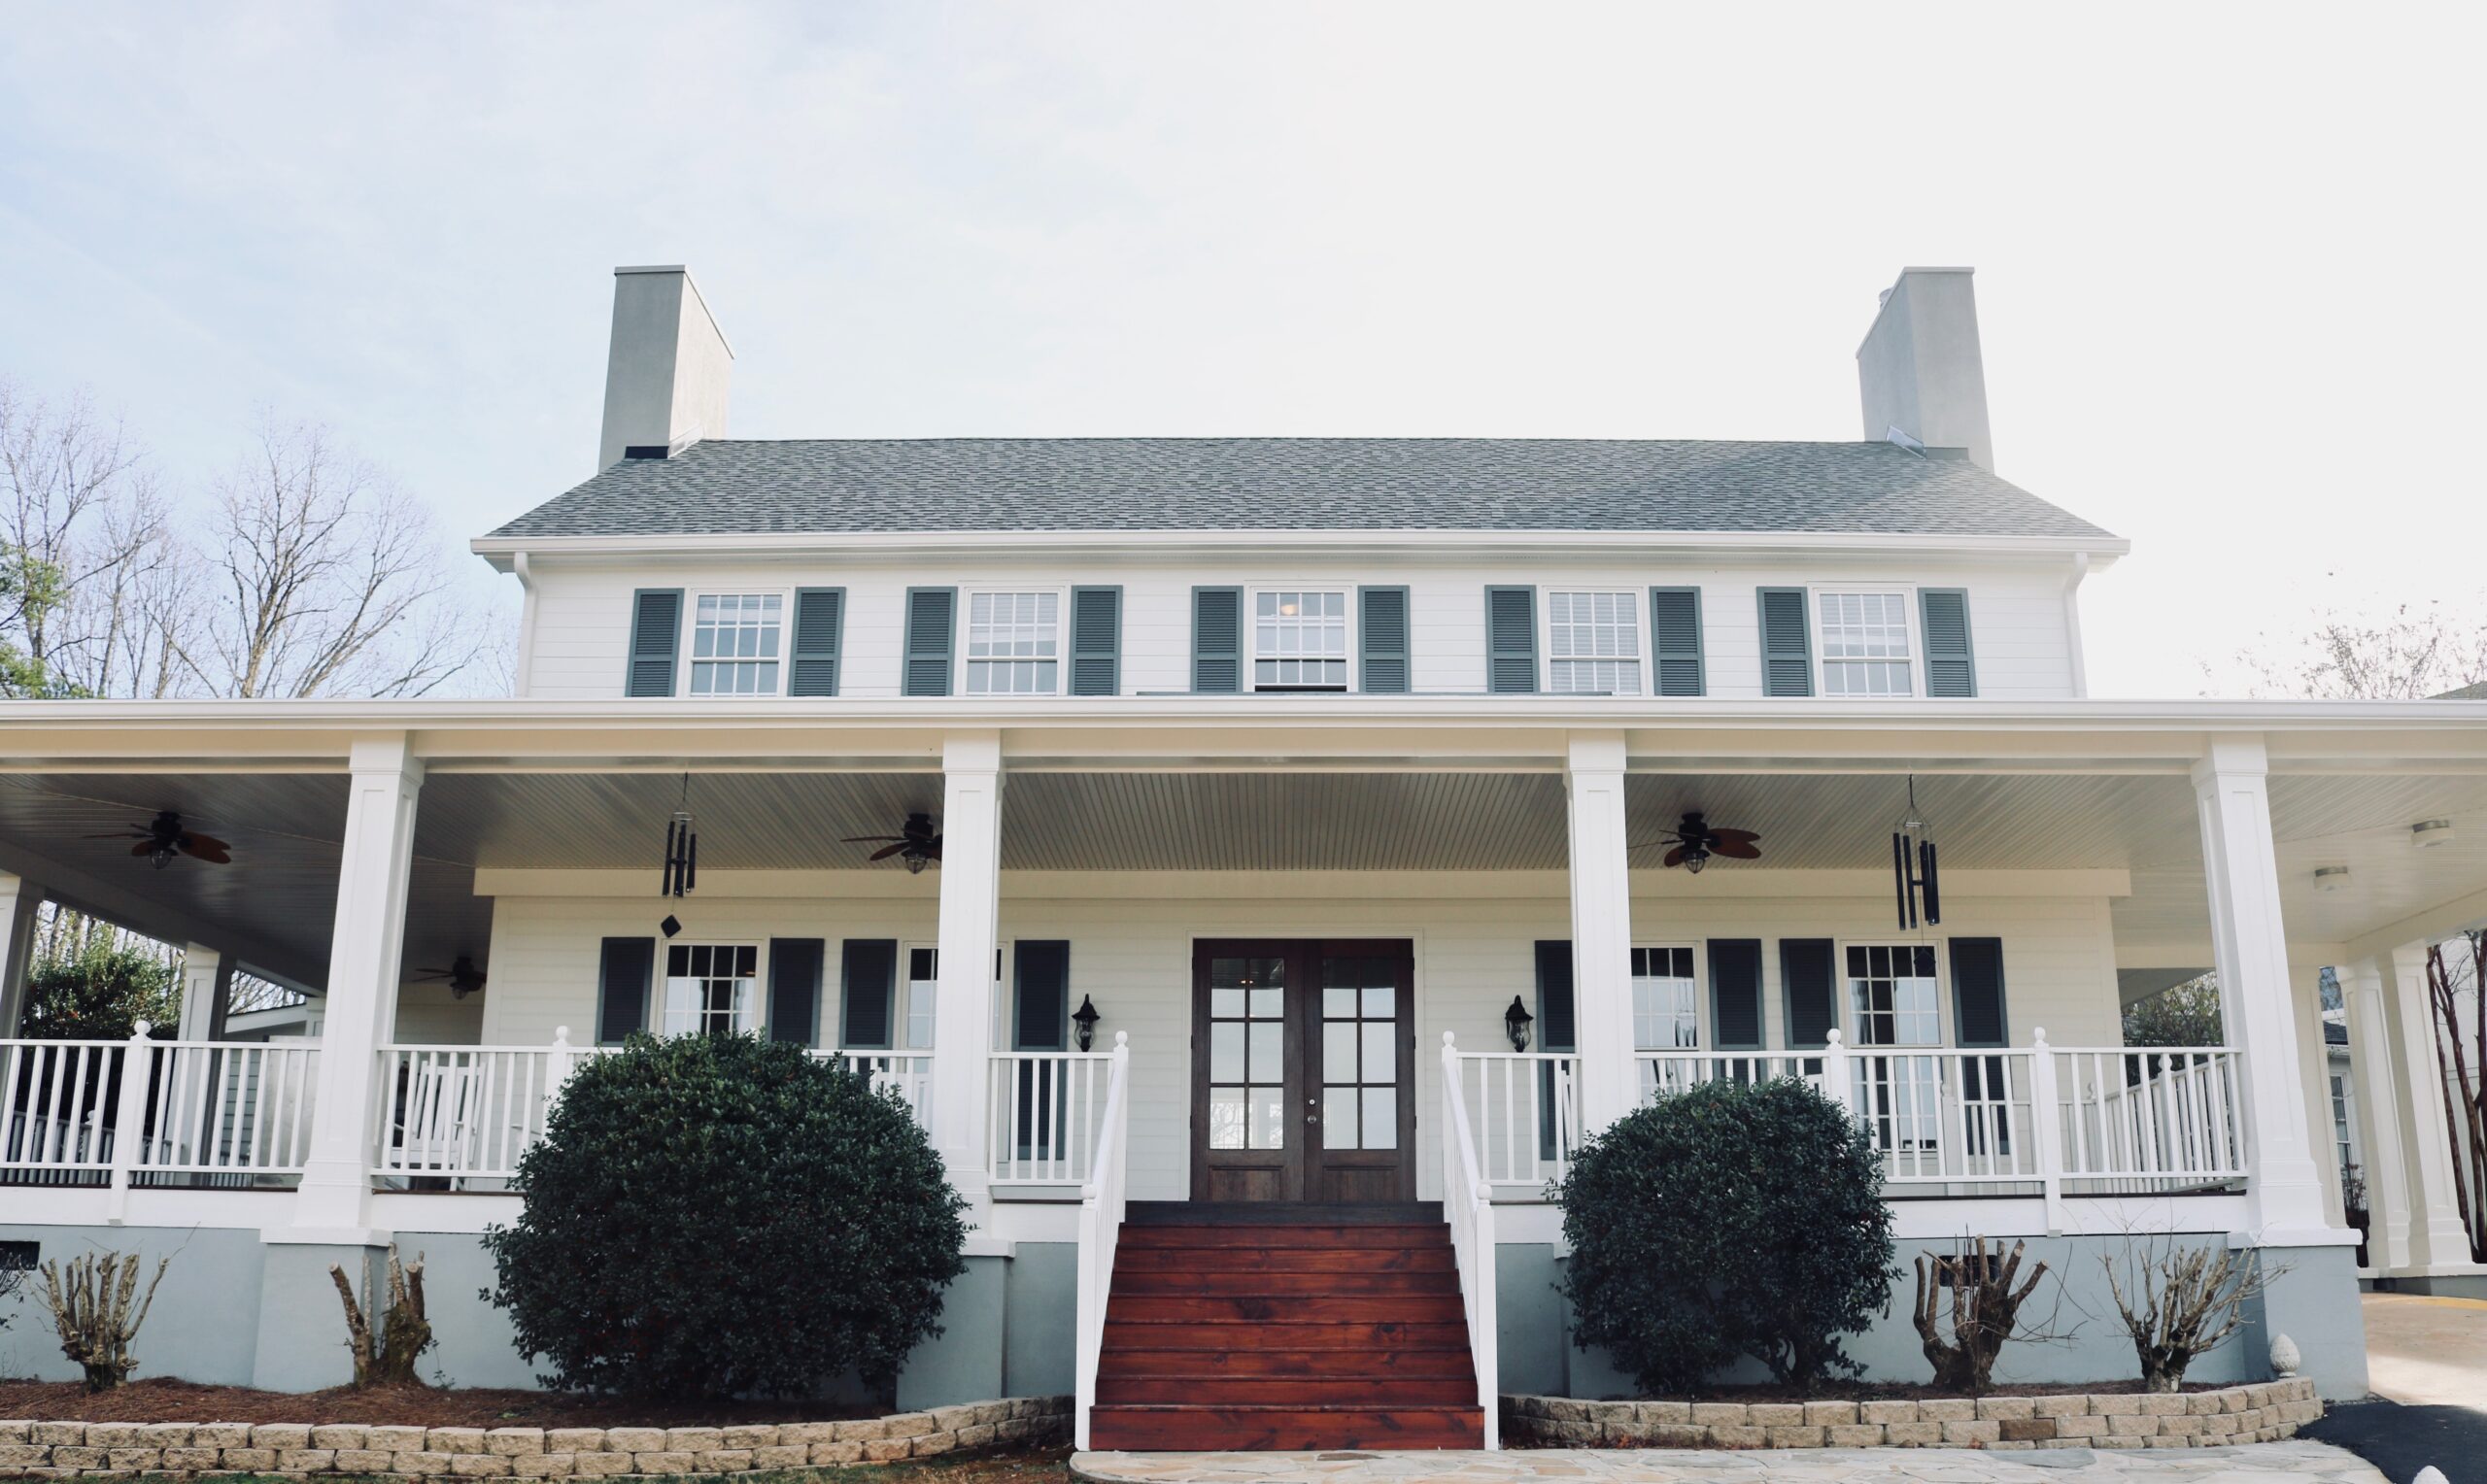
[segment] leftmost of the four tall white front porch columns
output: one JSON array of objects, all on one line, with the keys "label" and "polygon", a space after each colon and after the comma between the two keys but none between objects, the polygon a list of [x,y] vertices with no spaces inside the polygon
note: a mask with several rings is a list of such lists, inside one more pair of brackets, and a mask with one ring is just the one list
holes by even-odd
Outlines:
[{"label": "leftmost of the four tall white front porch columns", "polygon": [[405,950],[405,885],[423,763],[405,736],[388,736],[356,741],[351,766],[311,1158],[293,1198],[293,1228],[269,1233],[271,1240],[371,1238],[371,1079],[381,1042],[398,1019],[398,960]]}]

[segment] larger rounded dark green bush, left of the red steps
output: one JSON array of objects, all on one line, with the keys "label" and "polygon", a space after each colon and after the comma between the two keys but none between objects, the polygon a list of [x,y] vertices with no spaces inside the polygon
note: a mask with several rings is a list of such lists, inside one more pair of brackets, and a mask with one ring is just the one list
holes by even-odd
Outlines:
[{"label": "larger rounded dark green bush, left of the red steps", "polygon": [[908,1109],[754,1037],[632,1037],[584,1059],[520,1163],[485,1298],[552,1387],[888,1392],[965,1273],[965,1201]]}]

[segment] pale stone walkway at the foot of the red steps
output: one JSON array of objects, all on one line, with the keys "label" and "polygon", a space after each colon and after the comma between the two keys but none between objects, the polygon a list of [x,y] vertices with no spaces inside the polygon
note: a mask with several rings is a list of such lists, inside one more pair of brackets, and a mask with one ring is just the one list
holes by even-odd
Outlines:
[{"label": "pale stone walkway at the foot of the red steps", "polygon": [[1074,1454],[1092,1484],[2385,1484],[2320,1442],[2199,1449],[1507,1449]]}]

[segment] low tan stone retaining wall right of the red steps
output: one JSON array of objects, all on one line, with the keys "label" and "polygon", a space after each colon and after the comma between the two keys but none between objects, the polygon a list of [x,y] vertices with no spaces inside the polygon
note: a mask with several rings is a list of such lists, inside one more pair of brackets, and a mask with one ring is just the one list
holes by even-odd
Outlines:
[{"label": "low tan stone retaining wall right of the red steps", "polygon": [[1539,1447],[2211,1447],[2323,1417],[2313,1380],[2216,1392],[1930,1402],[1574,1402],[1502,1397],[1502,1442]]}]

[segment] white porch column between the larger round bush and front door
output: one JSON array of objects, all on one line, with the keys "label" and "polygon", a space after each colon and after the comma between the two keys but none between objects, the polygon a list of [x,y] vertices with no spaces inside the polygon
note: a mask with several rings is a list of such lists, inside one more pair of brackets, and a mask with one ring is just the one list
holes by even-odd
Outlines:
[{"label": "white porch column between the larger round bush and front door", "polygon": [[[933,1148],[982,1211],[992,1091],[992,952],[1002,912],[1002,736],[943,741],[940,982],[933,992]],[[970,1221],[982,1221],[972,1213]]]}]

